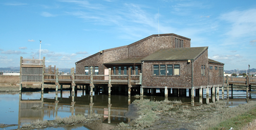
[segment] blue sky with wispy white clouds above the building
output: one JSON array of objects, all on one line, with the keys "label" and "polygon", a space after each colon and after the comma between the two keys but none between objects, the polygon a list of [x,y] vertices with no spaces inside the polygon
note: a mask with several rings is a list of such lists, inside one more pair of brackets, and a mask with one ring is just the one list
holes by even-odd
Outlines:
[{"label": "blue sky with wispy white clouds above the building", "polygon": [[71,68],[159,32],[209,46],[208,58],[225,70],[256,68],[256,1],[2,0],[0,19],[0,67],[39,59],[39,40],[47,66]]}]

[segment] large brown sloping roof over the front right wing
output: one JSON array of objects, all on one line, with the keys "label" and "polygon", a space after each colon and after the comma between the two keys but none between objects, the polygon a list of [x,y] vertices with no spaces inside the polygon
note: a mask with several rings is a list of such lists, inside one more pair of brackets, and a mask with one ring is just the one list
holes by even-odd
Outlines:
[{"label": "large brown sloping roof over the front right wing", "polygon": [[187,47],[187,48],[168,48],[160,49],[155,53],[147,56],[141,61],[180,61],[195,60],[208,47]]}]

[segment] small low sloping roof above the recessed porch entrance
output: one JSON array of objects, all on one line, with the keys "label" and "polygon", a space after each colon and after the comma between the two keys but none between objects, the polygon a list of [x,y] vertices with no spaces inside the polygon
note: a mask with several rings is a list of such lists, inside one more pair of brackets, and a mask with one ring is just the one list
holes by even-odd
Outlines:
[{"label": "small low sloping roof above the recessed porch entrance", "polygon": [[141,64],[141,59],[143,59],[143,58],[144,57],[125,58],[125,59],[121,59],[121,60],[117,60],[117,61],[104,63],[104,65],[106,65],[106,64]]}]

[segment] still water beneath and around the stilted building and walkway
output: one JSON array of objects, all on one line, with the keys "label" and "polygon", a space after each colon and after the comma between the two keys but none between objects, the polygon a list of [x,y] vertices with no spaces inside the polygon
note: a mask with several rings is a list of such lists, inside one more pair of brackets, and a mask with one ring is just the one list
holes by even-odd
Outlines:
[{"label": "still water beneath and around the stilted building and walkway", "polygon": [[[159,91],[157,91],[159,92]],[[222,92],[217,97],[206,97],[204,90],[203,98],[195,97],[194,102],[209,103],[217,99],[222,99]],[[188,97],[164,97],[164,96],[146,96],[144,99],[151,100],[181,100],[183,103],[190,103]],[[246,94],[246,91],[229,91],[229,106],[236,106],[239,103],[246,103],[247,99],[256,99],[256,94]],[[226,99],[226,91],[224,93]],[[54,120],[56,116],[69,117],[71,115],[90,115],[92,113],[102,116],[100,122],[96,124],[76,125],[70,127],[46,128],[46,129],[108,129],[116,126],[120,122],[130,122],[125,114],[129,111],[129,105],[137,98],[124,95],[90,95],[83,90],[75,93],[71,91],[49,91],[45,93],[38,92],[16,92],[0,93],[0,123],[23,125],[36,120]],[[138,98],[139,99],[139,98]],[[208,102],[207,102],[208,101]],[[43,109],[31,109],[32,107],[41,107]],[[95,127],[97,126],[97,128]],[[15,129],[19,126],[10,126],[0,129]]]}]

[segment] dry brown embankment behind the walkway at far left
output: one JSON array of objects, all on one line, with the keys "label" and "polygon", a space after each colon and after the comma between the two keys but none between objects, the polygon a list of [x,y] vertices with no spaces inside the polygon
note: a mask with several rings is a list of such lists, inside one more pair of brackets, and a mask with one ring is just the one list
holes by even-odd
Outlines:
[{"label": "dry brown embankment behind the walkway at far left", "polygon": [[[44,85],[45,90],[55,90],[55,85]],[[68,89],[70,86],[63,86]],[[59,86],[60,89],[60,86]],[[41,84],[23,84],[22,91],[39,91]],[[0,92],[18,92],[19,76],[18,75],[0,75]]]}]

